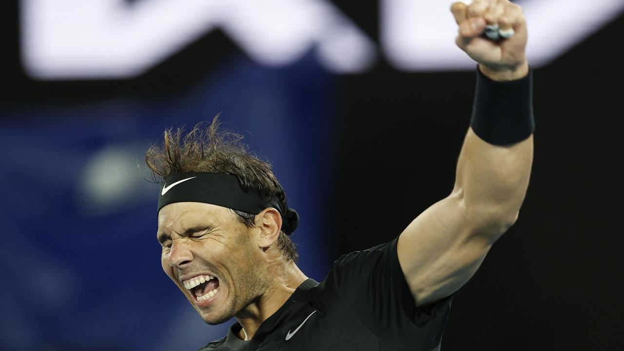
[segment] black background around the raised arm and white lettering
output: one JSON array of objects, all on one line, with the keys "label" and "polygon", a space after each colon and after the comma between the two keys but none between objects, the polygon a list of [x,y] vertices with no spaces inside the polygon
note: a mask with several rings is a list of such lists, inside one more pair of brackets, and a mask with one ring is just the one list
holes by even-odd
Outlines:
[{"label": "black background around the raised arm and white lettering", "polygon": [[[377,2],[336,4],[378,37]],[[19,64],[17,2],[4,6],[9,105],[184,89],[238,51],[217,31],[130,81],[33,81]],[[517,223],[456,295],[442,350],[624,349],[623,34],[620,16],[535,69],[529,191]],[[222,55],[208,54],[207,43]],[[451,192],[474,92],[474,72],[406,73],[385,62],[337,79],[341,148],[326,230],[334,258],[393,239]]]}]

